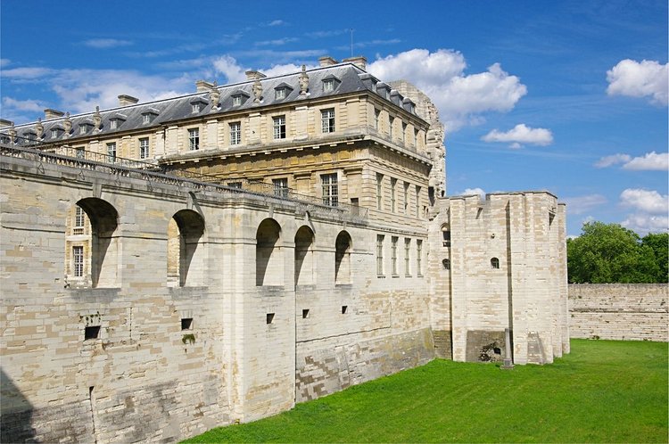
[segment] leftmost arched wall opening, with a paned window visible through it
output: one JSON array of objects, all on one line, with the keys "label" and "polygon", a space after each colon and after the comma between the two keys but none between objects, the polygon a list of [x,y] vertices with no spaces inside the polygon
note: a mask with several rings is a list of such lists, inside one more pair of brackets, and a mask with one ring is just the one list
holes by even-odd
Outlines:
[{"label": "leftmost arched wall opening, with a paned window visible through it", "polygon": [[65,243],[65,275],[70,287],[118,286],[118,219],[116,209],[102,199],[82,199],[71,208]]}]

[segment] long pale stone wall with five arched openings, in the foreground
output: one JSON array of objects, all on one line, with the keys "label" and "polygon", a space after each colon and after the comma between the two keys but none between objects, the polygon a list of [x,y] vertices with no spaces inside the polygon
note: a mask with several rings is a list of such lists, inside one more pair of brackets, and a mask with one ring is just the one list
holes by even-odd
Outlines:
[{"label": "long pale stone wall with five arched openings, in the foreground", "polygon": [[[387,229],[358,214],[14,155],[0,176],[3,442],[175,441],[434,358],[426,278],[378,279]],[[74,206],[95,234],[95,288],[68,271]]]}]

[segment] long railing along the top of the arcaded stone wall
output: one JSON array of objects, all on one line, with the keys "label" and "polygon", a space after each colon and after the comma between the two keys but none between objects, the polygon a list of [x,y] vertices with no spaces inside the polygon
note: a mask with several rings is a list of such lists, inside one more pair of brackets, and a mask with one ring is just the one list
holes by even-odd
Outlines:
[{"label": "long railing along the top of the arcaded stone wall", "polygon": [[[147,180],[161,183],[179,184],[188,183],[195,188],[208,188],[226,193],[250,193],[279,200],[298,201],[306,203],[314,210],[329,210],[348,213],[352,218],[367,219],[368,209],[357,205],[350,205],[332,199],[324,200],[316,196],[295,193],[291,188],[279,187],[261,181],[249,181],[244,178],[235,179],[237,185],[221,184],[233,182],[231,179],[196,173],[187,169],[176,169],[158,163],[125,159],[115,154],[90,152],[82,148],[62,144],[49,144],[14,136],[12,143],[10,136],[1,135],[0,155],[39,160],[45,163],[54,163],[78,169],[106,171],[120,177],[139,175]],[[238,185],[241,185],[238,186]]]}]

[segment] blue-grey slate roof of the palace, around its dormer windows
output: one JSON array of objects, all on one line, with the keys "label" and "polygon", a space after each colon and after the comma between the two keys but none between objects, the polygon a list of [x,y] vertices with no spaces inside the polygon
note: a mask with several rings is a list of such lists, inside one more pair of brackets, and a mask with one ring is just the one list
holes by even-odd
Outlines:
[{"label": "blue-grey slate roof of the palace, around its dormer windows", "polygon": [[[371,74],[368,74],[364,70],[360,70],[350,62],[308,70],[307,74],[309,75],[309,92],[306,97],[300,96],[299,78],[301,72],[295,72],[272,78],[261,78],[262,99],[260,103],[255,103],[253,100],[254,95],[252,87],[254,80],[247,80],[241,83],[217,86],[220,94],[218,110],[211,111],[209,91],[182,95],[154,102],[135,103],[119,108],[100,111],[102,124],[99,131],[95,131],[93,127],[94,112],[70,116],[72,128],[69,137],[64,137],[62,134],[57,137],[51,136],[52,129],[63,129],[63,122],[66,117],[42,120],[42,125],[44,127],[42,140],[44,142],[76,140],[78,138],[89,137],[94,134],[94,131],[95,136],[111,136],[115,133],[126,132],[132,129],[158,128],[169,122],[176,122],[183,119],[205,116],[214,117],[218,114],[225,114],[230,111],[259,110],[279,103],[297,103],[301,100],[344,95],[364,90],[379,95],[389,103],[393,103],[417,117],[415,106],[413,106],[411,101],[402,101],[403,97],[401,97],[401,95],[399,97],[400,100],[398,101],[397,95],[399,95],[399,93],[395,91],[393,91],[392,95],[388,95],[387,93],[390,92],[390,86],[385,85]],[[323,90],[323,80],[325,78],[333,77],[338,80],[335,82],[334,90],[325,92]],[[376,85],[380,87],[376,89]],[[283,99],[276,99],[275,88],[280,87],[286,88],[286,95]],[[375,91],[377,92],[375,93]],[[242,104],[233,106],[233,95],[240,94],[243,95]],[[201,103],[199,112],[193,112],[194,103]],[[143,116],[146,113],[152,114],[152,119],[149,123],[144,123]],[[110,126],[110,121],[112,119],[120,119],[118,127],[115,129],[112,129]],[[420,118],[417,117],[417,119]],[[19,137],[32,136],[32,138],[34,138],[34,135],[36,134],[36,125],[37,122],[30,122],[23,125],[17,125],[14,129]],[[87,128],[84,134],[80,133],[80,125],[85,125]],[[11,128],[9,127],[4,127],[2,131],[0,131],[0,134],[3,136],[7,135],[10,129]],[[21,139],[17,140],[17,143],[22,144]]]}]

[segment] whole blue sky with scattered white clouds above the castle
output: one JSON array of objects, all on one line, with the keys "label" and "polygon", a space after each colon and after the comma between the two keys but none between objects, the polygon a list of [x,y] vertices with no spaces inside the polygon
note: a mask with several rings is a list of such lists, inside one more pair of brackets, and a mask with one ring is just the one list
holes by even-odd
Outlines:
[{"label": "whole blue sky with scattered white clouds above the castle", "polygon": [[446,125],[449,194],[548,190],[584,221],[667,230],[667,2],[75,2],[0,4],[3,119],[145,102],[368,58]]}]

